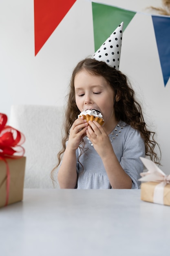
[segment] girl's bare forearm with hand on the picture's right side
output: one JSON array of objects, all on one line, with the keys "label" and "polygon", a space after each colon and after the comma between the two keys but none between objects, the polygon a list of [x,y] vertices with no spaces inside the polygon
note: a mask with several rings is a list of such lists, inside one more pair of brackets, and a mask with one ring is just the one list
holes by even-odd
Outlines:
[{"label": "girl's bare forearm with hand on the picture's right side", "polygon": [[87,136],[93,143],[99,156],[102,158],[111,187],[113,189],[131,189],[132,180],[121,167],[107,133],[95,121],[94,124],[90,123],[90,125],[94,131],[88,126]]}]

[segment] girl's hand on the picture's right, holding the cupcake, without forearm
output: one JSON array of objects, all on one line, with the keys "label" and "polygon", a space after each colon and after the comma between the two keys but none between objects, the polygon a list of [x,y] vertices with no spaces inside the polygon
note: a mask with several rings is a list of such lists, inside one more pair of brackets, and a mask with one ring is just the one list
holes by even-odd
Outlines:
[{"label": "girl's hand on the picture's right, holding the cupcake, without forearm", "polygon": [[105,157],[107,152],[113,151],[110,139],[104,130],[104,128],[96,121],[89,121],[86,134],[90,141],[93,143],[93,147],[99,154],[99,156]]}]

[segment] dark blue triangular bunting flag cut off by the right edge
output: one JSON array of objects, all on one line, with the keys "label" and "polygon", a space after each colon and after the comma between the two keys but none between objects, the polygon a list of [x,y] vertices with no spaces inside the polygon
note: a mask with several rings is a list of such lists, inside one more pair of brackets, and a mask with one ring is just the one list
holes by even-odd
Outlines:
[{"label": "dark blue triangular bunting flag cut off by the right edge", "polygon": [[152,16],[164,86],[170,78],[170,17]]}]

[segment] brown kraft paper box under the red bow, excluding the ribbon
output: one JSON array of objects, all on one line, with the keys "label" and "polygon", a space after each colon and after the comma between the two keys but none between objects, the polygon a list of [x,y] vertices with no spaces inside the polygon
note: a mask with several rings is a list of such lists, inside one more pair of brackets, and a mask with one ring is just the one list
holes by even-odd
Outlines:
[{"label": "brown kraft paper box under the red bow, excluding the ribbon", "polygon": [[7,191],[7,165],[3,160],[0,160],[0,207],[5,206],[6,203],[12,204],[23,199],[26,157],[6,158],[5,160],[9,167],[9,191]]}]

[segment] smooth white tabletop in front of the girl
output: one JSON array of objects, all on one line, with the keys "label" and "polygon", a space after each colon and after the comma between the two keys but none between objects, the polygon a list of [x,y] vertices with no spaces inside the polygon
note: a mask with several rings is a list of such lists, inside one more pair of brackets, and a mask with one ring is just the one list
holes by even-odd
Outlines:
[{"label": "smooth white tabletop in front of the girl", "polygon": [[170,207],[140,190],[24,189],[0,208],[2,256],[170,254]]}]

